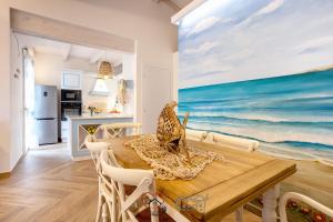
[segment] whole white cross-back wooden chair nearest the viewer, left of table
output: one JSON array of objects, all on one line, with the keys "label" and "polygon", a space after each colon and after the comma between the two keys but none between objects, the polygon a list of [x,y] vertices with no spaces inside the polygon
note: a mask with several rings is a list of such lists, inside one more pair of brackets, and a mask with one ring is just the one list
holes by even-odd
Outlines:
[{"label": "whole white cross-back wooden chair nearest the viewer, left of table", "polygon": [[[149,212],[150,219],[152,222],[158,222],[159,213],[159,204],[158,198],[155,196],[155,182],[154,174],[151,170],[137,170],[137,169],[123,169],[121,168],[112,151],[103,151],[101,153],[101,165],[103,173],[103,185],[102,185],[102,194],[107,199],[107,203],[109,205],[109,211],[111,213],[111,219],[114,221],[133,221],[138,222],[140,216],[144,218],[144,213]],[[124,192],[124,185],[134,185],[135,190],[127,195]],[[119,210],[112,210],[112,201],[109,204],[108,200],[114,200],[114,193],[117,195],[117,200],[119,201]],[[147,204],[141,205],[141,208],[133,206],[138,205],[142,198],[145,200],[150,200]],[[142,202],[141,202],[142,203]],[[118,214],[118,215],[117,215]],[[139,216],[139,218],[138,218]],[[147,216],[147,215],[145,215]],[[163,216],[168,215],[163,213]],[[145,218],[147,219],[147,218]],[[169,216],[168,219],[162,219],[161,221],[171,221],[172,219]]]}]

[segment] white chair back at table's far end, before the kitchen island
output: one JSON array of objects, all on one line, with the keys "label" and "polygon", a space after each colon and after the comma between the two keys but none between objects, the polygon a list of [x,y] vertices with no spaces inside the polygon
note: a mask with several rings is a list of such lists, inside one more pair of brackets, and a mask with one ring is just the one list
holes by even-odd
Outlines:
[{"label": "white chair back at table's far end, before the kitchen island", "polygon": [[[104,131],[104,139],[113,139],[125,135],[139,135],[141,132],[142,124],[139,122],[117,122],[110,124],[103,124],[101,127]],[[128,131],[132,131],[129,133]]]}]

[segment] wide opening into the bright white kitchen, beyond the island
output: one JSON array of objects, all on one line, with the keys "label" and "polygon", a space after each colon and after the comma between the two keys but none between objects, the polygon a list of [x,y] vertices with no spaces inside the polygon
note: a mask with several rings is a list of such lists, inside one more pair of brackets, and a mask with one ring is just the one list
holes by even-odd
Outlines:
[{"label": "wide opening into the bright white kitchen, beyond the island", "polygon": [[[94,107],[101,115],[133,114],[135,54],[19,32],[13,34],[19,48],[23,49],[27,150],[64,148],[72,151],[67,143],[74,137],[70,134],[68,115],[88,115],[89,107]],[[112,79],[98,79],[102,61],[112,64]],[[122,105],[118,103],[119,80],[127,82]]]}]

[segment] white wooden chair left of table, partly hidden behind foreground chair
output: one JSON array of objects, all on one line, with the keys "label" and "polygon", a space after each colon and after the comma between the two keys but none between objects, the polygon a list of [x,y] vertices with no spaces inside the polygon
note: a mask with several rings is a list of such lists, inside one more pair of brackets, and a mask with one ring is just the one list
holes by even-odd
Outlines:
[{"label": "white wooden chair left of table, partly hidden behind foreground chair", "polygon": [[98,174],[98,180],[99,180],[99,201],[98,201],[98,212],[97,212],[97,218],[95,222],[99,222],[101,219],[103,221],[108,220],[108,213],[107,213],[107,205],[104,204],[105,200],[102,196],[101,188],[102,188],[102,179],[101,179],[101,161],[100,161],[100,154],[103,150],[108,150],[109,143],[107,142],[98,142],[97,138],[94,135],[87,135],[84,140],[85,147],[90,151],[91,159],[94,163],[95,171]]}]

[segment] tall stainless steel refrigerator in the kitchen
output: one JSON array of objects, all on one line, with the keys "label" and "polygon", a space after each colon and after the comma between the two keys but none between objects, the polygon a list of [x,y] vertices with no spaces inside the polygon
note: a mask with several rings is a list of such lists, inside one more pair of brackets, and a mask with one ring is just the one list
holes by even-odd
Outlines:
[{"label": "tall stainless steel refrigerator in the kitchen", "polygon": [[34,119],[39,144],[58,142],[57,87],[37,84],[34,88]]}]

